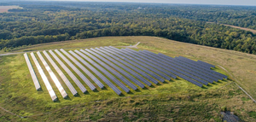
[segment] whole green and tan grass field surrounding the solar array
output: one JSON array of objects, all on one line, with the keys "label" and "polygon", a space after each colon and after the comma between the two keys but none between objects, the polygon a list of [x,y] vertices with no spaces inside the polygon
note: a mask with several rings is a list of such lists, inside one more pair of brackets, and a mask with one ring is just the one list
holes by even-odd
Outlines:
[{"label": "whole green and tan grass field surrounding the solar array", "polygon": [[[23,53],[0,56],[0,106],[20,116],[30,116],[26,119],[19,119],[10,113],[1,111],[0,120],[220,121],[219,112],[226,109],[235,112],[245,121],[256,119],[254,115],[256,114],[254,113],[255,104],[232,83],[236,80],[236,83],[240,84],[250,95],[256,96],[256,90],[253,87],[256,84],[253,83],[256,73],[255,68],[253,68],[256,64],[255,55],[195,44],[184,44],[154,37],[90,38],[32,45],[14,52],[61,48],[68,51],[109,45],[127,46],[137,44],[137,42],[141,42],[138,49],[148,49],[172,57],[182,55],[190,59],[219,65],[227,69],[229,73],[225,73],[220,67],[213,70],[227,74],[230,78],[203,88],[177,78],[163,84],[154,84],[153,87],[147,87],[146,89],[131,90],[131,93],[128,94],[123,92],[123,96],[117,96],[109,87],[103,90],[97,88],[97,91],[91,91],[83,82],[82,84],[89,92],[83,94],[79,88],[75,87],[79,91],[79,96],[72,96],[71,92],[67,90],[67,86],[63,85],[69,95],[67,99],[61,98],[61,94],[52,84],[53,82],[49,80],[59,98],[58,102],[52,102],[40,77],[38,79],[43,90],[35,90]],[[36,56],[38,58],[38,55]],[[29,57],[32,59],[30,55]],[[44,59],[46,58],[44,57]],[[42,62],[39,62],[43,66]],[[33,63],[32,65],[35,68]],[[54,69],[51,65],[49,66]],[[45,68],[43,69],[44,73],[47,74]],[[37,70],[35,71],[38,75]],[[55,72],[55,74],[57,73]],[[71,78],[69,79],[72,81]],[[80,81],[82,80],[80,79]],[[61,81],[61,84],[64,83]],[[74,83],[72,84],[76,86]]]}]

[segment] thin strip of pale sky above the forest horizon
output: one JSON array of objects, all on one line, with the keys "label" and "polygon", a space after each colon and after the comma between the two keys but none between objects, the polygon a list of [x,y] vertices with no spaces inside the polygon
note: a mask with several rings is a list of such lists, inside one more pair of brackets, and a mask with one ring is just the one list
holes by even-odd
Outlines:
[{"label": "thin strip of pale sky above the forest horizon", "polygon": [[84,1],[84,2],[129,2],[129,3],[189,3],[256,6],[256,0],[40,0],[40,1]]}]

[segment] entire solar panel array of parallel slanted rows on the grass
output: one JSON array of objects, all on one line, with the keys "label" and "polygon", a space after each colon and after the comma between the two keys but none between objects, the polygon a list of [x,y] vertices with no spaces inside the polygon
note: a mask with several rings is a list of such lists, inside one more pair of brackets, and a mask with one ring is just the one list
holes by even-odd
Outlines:
[{"label": "entire solar panel array of parallel slanted rows on the grass", "polygon": [[[92,91],[109,87],[117,95],[121,95],[123,91],[128,93],[131,89],[145,88],[145,86],[160,84],[177,77],[199,87],[228,78],[222,73],[213,71],[212,68],[215,66],[207,62],[193,61],[183,56],[172,58],[160,53],[154,54],[148,50],[135,51],[110,46],[73,51],[55,49],[55,52],[49,50],[50,55],[44,50],[43,54],[44,56],[37,52],[44,69],[34,53],[31,53],[40,78],[37,77],[29,56],[24,54],[24,57],[36,90],[42,89],[38,78],[42,79],[52,101],[56,101],[57,96],[51,82],[55,84],[61,96],[66,98],[67,92],[63,85],[67,85],[73,96],[79,94],[73,85],[77,85],[83,93],[88,92],[85,87]],[[51,64],[54,70],[48,64]],[[49,78],[44,71],[49,73]],[[64,72],[67,74],[65,75]]]}]

